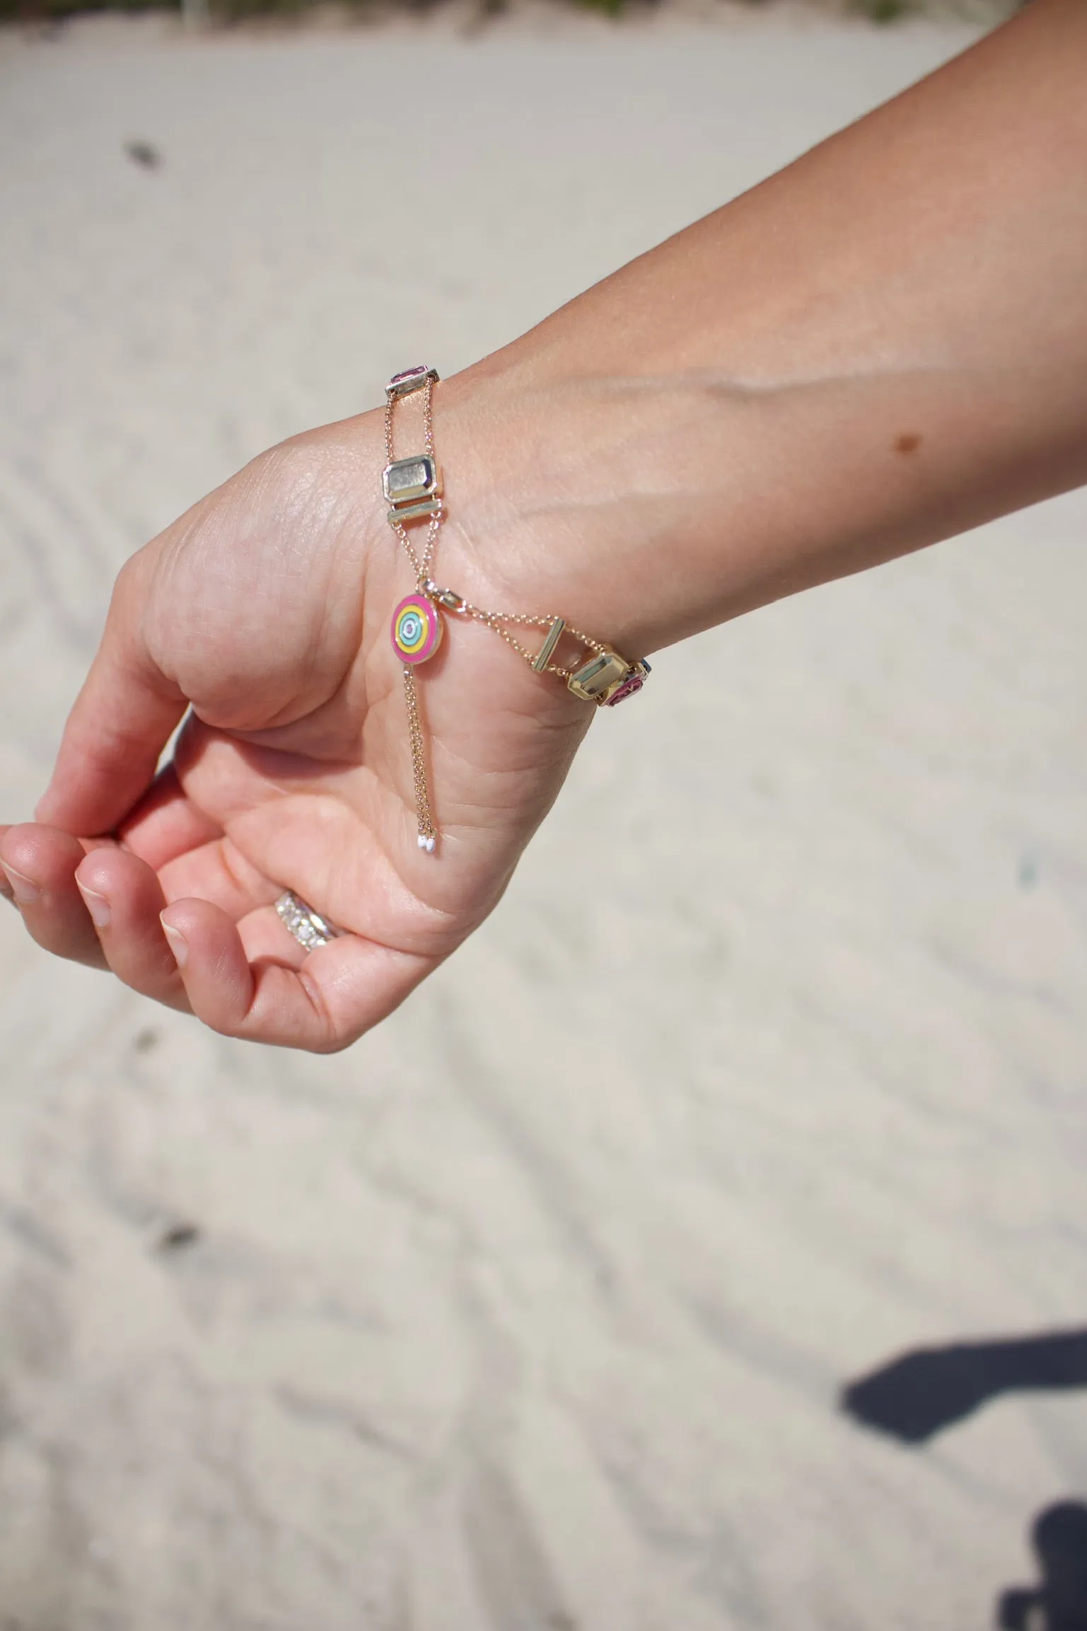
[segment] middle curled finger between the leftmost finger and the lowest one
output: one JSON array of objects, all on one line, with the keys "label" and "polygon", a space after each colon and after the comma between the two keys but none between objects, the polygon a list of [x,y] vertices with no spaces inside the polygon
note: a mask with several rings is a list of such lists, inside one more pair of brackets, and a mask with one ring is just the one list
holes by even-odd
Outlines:
[{"label": "middle curled finger between the leftmost finger and the lowest one", "polygon": [[158,920],[166,897],[147,861],[125,850],[91,850],[75,882],[117,979],[158,1003],[187,1010],[178,962]]}]

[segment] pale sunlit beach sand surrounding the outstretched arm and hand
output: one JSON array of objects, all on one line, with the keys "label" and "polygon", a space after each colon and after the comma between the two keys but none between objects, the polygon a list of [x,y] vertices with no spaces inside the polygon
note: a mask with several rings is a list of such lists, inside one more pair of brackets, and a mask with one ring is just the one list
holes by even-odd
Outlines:
[{"label": "pale sunlit beach sand surrounding the outstretched arm and hand", "polygon": [[[0,34],[5,819],[194,497],[968,39]],[[983,1367],[934,1362],[962,1419],[906,1443],[839,1390],[1087,1326],[1085,528],[1069,496],[662,654],[494,918],[339,1057],[0,907],[3,1631],[994,1623],[1087,1489],[1087,1395],[963,1414]]]}]

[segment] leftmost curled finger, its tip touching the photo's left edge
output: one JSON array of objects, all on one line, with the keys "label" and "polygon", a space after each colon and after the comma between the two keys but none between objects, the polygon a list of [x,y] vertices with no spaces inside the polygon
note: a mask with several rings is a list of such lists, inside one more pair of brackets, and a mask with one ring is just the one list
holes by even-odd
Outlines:
[{"label": "leftmost curled finger, its tip touching the photo's left edge", "polygon": [[54,827],[23,822],[0,838],[0,864],[31,936],[46,951],[104,969],[95,925],[75,884],[85,850]]}]

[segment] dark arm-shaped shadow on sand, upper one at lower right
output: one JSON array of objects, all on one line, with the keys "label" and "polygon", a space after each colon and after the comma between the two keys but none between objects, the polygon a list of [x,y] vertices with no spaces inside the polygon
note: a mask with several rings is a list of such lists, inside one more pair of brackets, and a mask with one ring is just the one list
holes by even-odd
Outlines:
[{"label": "dark arm-shaped shadow on sand, upper one at lower right", "polygon": [[1001,1393],[1084,1386],[1087,1331],[1063,1331],[916,1349],[847,1383],[841,1408],[865,1427],[924,1443]]}]

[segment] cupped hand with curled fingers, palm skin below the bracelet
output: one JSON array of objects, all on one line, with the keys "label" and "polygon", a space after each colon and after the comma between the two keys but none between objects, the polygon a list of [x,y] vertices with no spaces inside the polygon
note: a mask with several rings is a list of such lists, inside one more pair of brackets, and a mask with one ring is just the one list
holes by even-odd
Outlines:
[{"label": "cupped hand with curled fingers, palm skin below the bracelet", "polygon": [[[41,946],[228,1036],[331,1052],[396,1008],[495,905],[593,713],[448,618],[417,672],[440,827],[419,850],[383,462],[380,414],[297,437],[135,555],[37,820],[0,829]],[[438,550],[442,582],[505,603],[453,528]],[[306,954],[284,889],[344,938]]]}]

